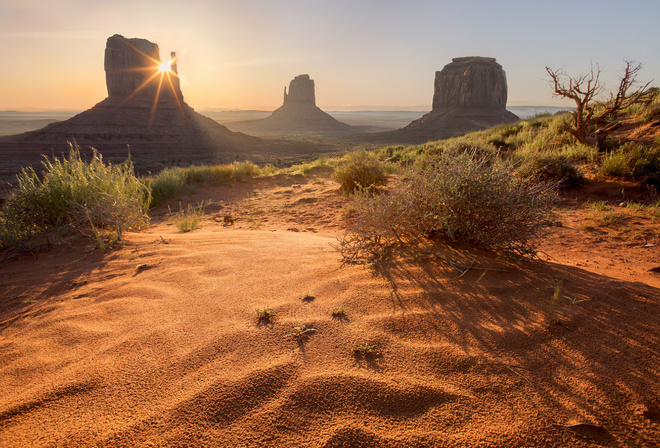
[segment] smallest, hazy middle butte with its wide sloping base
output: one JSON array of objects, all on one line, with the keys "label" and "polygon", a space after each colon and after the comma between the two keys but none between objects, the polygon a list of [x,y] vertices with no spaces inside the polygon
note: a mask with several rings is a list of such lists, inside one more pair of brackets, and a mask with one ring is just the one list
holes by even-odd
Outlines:
[{"label": "smallest, hazy middle butte with its wide sloping base", "polygon": [[273,113],[259,120],[229,123],[242,132],[279,134],[336,134],[356,133],[359,129],[336,120],[316,106],[314,80],[298,75],[284,87],[284,103]]}]

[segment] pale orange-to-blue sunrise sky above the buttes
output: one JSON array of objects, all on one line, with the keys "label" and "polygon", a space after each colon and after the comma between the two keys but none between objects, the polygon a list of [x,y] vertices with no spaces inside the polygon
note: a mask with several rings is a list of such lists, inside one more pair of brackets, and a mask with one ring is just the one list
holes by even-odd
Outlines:
[{"label": "pale orange-to-blue sunrise sky above the buttes", "polygon": [[274,109],[297,75],[317,105],[428,106],[454,57],[495,57],[508,105],[553,98],[545,66],[591,64],[616,89],[624,60],[660,85],[658,0],[0,0],[0,110],[85,110],[107,96],[108,37],[179,55],[195,109]]}]

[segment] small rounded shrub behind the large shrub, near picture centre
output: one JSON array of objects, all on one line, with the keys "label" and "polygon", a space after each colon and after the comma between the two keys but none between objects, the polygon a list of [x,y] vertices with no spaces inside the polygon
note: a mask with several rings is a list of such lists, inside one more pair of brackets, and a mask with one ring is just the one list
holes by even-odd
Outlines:
[{"label": "small rounded shrub behind the large shrub, near picture centre", "polygon": [[333,179],[341,184],[344,191],[371,188],[387,182],[383,164],[365,151],[348,154],[345,162],[335,170]]}]

